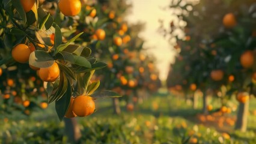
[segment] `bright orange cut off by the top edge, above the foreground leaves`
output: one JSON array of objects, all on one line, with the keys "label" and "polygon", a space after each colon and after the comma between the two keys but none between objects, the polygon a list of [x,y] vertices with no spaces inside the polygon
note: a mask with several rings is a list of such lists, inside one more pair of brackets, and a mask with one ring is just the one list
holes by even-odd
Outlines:
[{"label": "bright orange cut off by the top edge, above the foreground leaves", "polygon": [[75,16],[81,11],[80,0],[59,0],[59,10],[65,16]]}]

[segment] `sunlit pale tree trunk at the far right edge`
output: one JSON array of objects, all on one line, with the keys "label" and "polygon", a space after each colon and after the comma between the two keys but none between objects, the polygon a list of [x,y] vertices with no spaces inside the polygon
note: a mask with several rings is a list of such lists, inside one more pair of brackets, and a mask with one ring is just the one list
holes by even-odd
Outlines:
[{"label": "sunlit pale tree trunk at the far right edge", "polygon": [[236,130],[245,132],[247,129],[247,118],[249,110],[249,101],[246,103],[239,103],[239,108],[237,111],[237,121],[236,121]]}]

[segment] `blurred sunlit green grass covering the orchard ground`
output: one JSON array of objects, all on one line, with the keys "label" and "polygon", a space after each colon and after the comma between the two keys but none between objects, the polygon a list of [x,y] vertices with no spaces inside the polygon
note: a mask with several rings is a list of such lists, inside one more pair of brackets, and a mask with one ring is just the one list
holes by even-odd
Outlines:
[{"label": "blurred sunlit green grass covering the orchard ground", "polygon": [[[214,109],[219,108],[218,100],[210,101]],[[234,100],[233,103],[237,102]],[[197,139],[196,143],[256,143],[255,115],[249,115],[246,133],[234,131],[234,125],[225,122],[219,128],[198,119],[201,106],[194,110],[182,98],[165,91],[136,104],[133,112],[127,112],[122,101],[120,116],[113,114],[111,99],[96,100],[96,104],[96,113],[77,118],[81,143],[191,143],[192,139]],[[252,99],[250,112],[255,109],[256,100]],[[232,112],[225,117],[235,115],[236,112]],[[0,118],[1,143],[68,143],[64,122],[59,122],[54,104],[31,116],[15,113]],[[227,133],[230,138],[222,133]]]}]

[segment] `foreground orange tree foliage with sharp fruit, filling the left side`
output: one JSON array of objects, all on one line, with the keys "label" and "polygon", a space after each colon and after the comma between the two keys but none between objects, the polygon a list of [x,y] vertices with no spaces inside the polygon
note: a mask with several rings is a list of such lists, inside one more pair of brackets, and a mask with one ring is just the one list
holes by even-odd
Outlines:
[{"label": "foreground orange tree foliage with sharp fruit, filling the left side", "polygon": [[[1,112],[18,109],[28,114],[32,107],[45,109],[54,102],[62,120],[90,115],[95,106],[87,103],[117,95],[112,91],[93,95],[100,82],[91,82],[91,77],[106,64],[90,56],[88,47],[74,43],[83,32],[73,37],[66,27],[76,20],[81,5],[61,0],[55,9],[47,9],[38,1],[1,1]],[[71,107],[72,116],[66,113]]]}]

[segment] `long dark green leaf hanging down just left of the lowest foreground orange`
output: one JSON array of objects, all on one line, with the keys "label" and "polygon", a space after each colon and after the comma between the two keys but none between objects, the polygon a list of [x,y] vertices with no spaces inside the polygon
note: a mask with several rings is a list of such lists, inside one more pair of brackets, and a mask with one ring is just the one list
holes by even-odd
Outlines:
[{"label": "long dark green leaf hanging down just left of the lowest foreground orange", "polygon": [[72,95],[72,87],[69,82],[67,82],[67,91],[66,93],[55,102],[55,110],[58,114],[60,121],[64,118],[67,109],[69,109],[70,97]]}]

